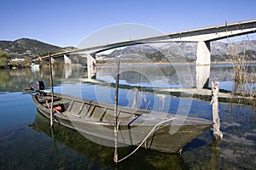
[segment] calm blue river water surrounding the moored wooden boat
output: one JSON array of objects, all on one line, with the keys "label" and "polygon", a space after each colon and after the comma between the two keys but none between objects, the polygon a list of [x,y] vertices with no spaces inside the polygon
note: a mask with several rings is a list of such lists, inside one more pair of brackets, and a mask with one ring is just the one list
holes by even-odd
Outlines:
[{"label": "calm blue river water surrounding the moored wooden boat", "polygon": [[[186,65],[186,69],[189,72],[183,71],[184,65],[121,67],[120,83],[124,86],[119,89],[119,105],[131,106],[134,89],[127,88],[130,85],[195,88],[195,69],[193,65]],[[115,81],[115,71],[115,67],[111,66],[98,67],[94,75],[95,80],[88,79],[84,67],[56,67],[55,93],[73,94],[84,99],[113,104],[114,88],[111,83]],[[178,71],[181,74],[178,74]],[[217,80],[220,82],[220,88],[231,90],[232,74],[231,65],[212,65],[210,82]],[[54,138],[52,138],[49,120],[37,111],[32,103],[32,94],[23,90],[28,82],[37,80],[43,80],[46,89],[49,90],[49,69],[0,70],[0,169],[255,169],[256,167],[256,111],[253,106],[219,104],[220,129],[224,133],[224,139],[218,144],[213,142],[212,131],[209,129],[187,144],[180,155],[142,148],[129,159],[115,165],[113,148],[95,144],[74,130],[55,124]],[[184,105],[186,108],[183,108]],[[208,101],[188,97],[177,98],[142,90],[138,94],[137,107],[212,119],[212,106]],[[133,149],[133,147],[119,148],[119,158],[128,155]]]}]

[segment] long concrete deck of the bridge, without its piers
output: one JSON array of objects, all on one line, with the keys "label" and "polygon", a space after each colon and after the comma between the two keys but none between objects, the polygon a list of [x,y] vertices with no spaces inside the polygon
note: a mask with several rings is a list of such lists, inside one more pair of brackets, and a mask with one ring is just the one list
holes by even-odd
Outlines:
[{"label": "long concrete deck of the bridge, without its piers", "polygon": [[[200,29],[189,31],[173,32],[154,37],[144,37],[135,40],[126,40],[123,42],[109,42],[108,44],[99,44],[95,47],[87,47],[82,49],[74,49],[70,51],[51,54],[53,58],[61,57],[64,54],[75,54],[79,52],[86,52],[89,54],[96,54],[104,50],[125,47],[136,44],[145,44],[153,42],[211,42],[226,37],[241,36],[248,33],[256,32],[256,20],[247,20],[236,23],[225,23],[219,26],[208,26]],[[49,55],[41,57],[40,59],[49,59]]]}]

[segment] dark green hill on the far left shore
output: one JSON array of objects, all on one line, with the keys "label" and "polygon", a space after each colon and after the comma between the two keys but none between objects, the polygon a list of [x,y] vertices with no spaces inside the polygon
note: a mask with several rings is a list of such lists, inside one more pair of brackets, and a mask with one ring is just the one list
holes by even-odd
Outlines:
[{"label": "dark green hill on the far left shore", "polygon": [[38,40],[20,38],[15,41],[0,41],[0,50],[9,53],[11,58],[34,58],[67,50]]}]

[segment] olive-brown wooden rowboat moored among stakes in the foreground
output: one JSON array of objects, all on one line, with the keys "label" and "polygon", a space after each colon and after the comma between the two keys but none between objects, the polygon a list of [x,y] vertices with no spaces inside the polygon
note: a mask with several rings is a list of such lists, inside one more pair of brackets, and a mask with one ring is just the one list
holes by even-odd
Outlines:
[{"label": "olive-brown wooden rowboat moored among stakes in the foreground", "polygon": [[[38,111],[50,116],[51,94],[32,95]],[[114,106],[79,99],[64,94],[54,94],[54,119],[61,125],[79,131],[98,144],[114,145]],[[212,126],[206,119],[178,116],[160,111],[146,111],[118,107],[119,146],[139,145],[149,150],[177,153]]]}]

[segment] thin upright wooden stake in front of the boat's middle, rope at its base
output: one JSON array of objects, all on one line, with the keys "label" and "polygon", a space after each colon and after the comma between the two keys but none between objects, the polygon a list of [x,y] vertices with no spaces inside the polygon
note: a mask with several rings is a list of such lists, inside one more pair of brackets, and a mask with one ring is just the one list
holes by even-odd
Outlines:
[{"label": "thin upright wooden stake in front of the boat's middle, rope at its base", "polygon": [[113,161],[118,162],[118,104],[119,104],[119,66],[120,61],[116,62],[117,65],[117,74],[115,77],[115,99],[114,99],[114,155]]}]

